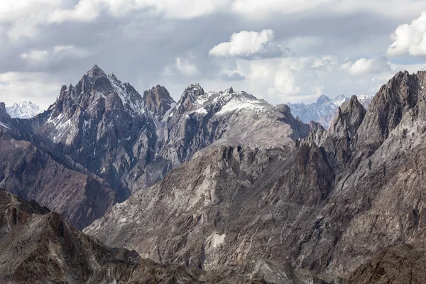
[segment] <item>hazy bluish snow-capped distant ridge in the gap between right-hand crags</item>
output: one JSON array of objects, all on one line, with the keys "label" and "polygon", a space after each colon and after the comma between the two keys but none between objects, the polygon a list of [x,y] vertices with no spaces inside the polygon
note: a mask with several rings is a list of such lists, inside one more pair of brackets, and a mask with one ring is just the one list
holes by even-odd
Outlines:
[{"label": "hazy bluish snow-capped distant ridge in the gap between right-hand crags", "polygon": [[[371,103],[373,97],[368,95],[356,95],[359,102],[365,107],[368,108],[368,105]],[[310,121],[317,121],[326,129],[329,128],[330,123],[334,115],[337,113],[337,109],[350,97],[346,97],[344,94],[339,94],[334,99],[330,99],[326,95],[322,94],[317,102],[312,104],[288,104],[290,111],[293,116],[297,116],[301,121],[306,124]]]}]

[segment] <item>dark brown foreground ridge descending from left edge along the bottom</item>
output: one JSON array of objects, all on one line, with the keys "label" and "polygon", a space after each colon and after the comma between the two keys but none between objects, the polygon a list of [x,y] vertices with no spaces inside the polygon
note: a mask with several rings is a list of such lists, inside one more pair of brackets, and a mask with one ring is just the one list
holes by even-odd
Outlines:
[{"label": "dark brown foreground ridge descending from left edge along the bottom", "polygon": [[104,246],[60,214],[0,189],[2,283],[299,284],[315,279],[269,261],[244,261],[216,271],[160,265],[135,251]]}]

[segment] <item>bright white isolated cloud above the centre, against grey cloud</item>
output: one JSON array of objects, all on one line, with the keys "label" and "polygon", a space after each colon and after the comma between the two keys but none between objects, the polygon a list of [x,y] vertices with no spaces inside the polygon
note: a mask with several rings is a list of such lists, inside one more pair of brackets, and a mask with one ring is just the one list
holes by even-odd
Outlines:
[{"label": "bright white isolated cloud above the centre, against grey cloud", "polygon": [[256,31],[241,31],[233,33],[231,40],[226,43],[219,43],[209,51],[209,55],[217,57],[249,56],[258,53],[266,53],[266,45],[271,43],[274,38],[274,32],[263,30],[260,33]]}]

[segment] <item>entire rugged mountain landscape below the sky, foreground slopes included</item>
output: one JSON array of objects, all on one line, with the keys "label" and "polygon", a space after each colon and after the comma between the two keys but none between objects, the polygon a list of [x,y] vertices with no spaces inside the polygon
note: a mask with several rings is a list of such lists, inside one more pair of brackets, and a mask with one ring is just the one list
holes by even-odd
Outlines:
[{"label": "entire rugged mountain landscape below the sky, foreground slopes included", "polygon": [[96,65],[31,119],[0,104],[0,275],[426,283],[425,85],[398,72],[367,109],[320,97],[327,129],[232,88],[139,94]]}]

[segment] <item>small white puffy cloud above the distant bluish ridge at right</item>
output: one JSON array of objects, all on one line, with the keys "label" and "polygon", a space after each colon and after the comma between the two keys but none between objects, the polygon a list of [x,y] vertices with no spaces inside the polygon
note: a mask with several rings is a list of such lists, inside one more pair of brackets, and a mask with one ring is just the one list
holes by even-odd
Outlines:
[{"label": "small white puffy cloud above the distant bluish ridge at right", "polygon": [[388,72],[391,66],[385,57],[378,58],[359,58],[354,63],[349,60],[342,62],[342,68],[347,70],[350,75],[366,75],[380,72]]}]

